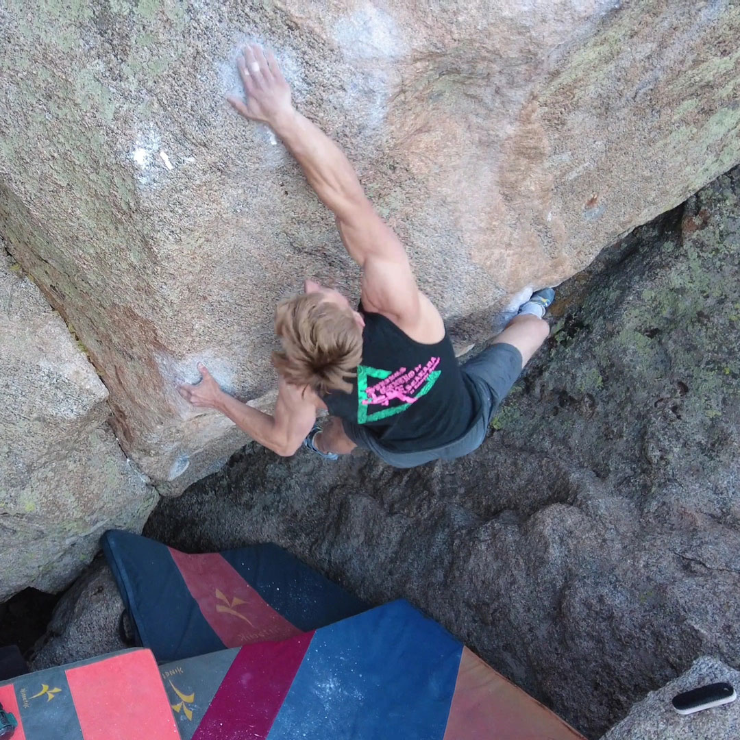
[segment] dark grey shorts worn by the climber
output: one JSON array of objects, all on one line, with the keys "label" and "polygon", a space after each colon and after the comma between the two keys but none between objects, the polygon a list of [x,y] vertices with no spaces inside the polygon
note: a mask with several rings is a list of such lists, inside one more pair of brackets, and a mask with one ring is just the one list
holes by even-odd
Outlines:
[{"label": "dark grey shorts worn by the climber", "polygon": [[511,386],[522,372],[522,354],[511,344],[492,344],[462,366],[462,371],[473,381],[480,399],[480,414],[471,428],[454,442],[418,452],[394,452],[383,448],[370,428],[354,421],[343,420],[347,437],[357,447],[374,452],[394,468],[415,468],[431,460],[454,460],[470,454],[482,445],[488,425]]}]

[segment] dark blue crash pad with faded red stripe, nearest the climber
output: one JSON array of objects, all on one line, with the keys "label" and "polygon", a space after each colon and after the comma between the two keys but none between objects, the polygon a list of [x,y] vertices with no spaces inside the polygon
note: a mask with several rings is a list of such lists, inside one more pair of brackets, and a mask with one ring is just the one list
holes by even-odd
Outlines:
[{"label": "dark blue crash pad with faded red stripe, nearest the climber", "polygon": [[286,639],[368,607],[277,545],[186,554],[115,530],[101,544],[136,644],[159,662]]}]

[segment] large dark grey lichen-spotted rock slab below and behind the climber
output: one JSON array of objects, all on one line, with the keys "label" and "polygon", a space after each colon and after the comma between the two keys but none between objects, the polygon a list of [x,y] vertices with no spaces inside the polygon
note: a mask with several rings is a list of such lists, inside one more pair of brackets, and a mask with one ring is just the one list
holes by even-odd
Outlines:
[{"label": "large dark grey lichen-spotted rock slab below and behind the climber", "polygon": [[269,541],[405,596],[596,738],[703,655],[740,665],[740,169],[569,281],[474,454],[245,451],[145,534]]}]

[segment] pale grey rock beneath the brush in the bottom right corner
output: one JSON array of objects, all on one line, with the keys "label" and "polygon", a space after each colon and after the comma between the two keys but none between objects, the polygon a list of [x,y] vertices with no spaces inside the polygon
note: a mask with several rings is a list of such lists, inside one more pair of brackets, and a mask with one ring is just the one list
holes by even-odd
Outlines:
[{"label": "pale grey rock beneath the brush in the bottom right corner", "polygon": [[690,715],[679,714],[670,704],[677,693],[716,682],[740,689],[740,671],[710,656],[699,658],[682,676],[635,704],[602,740],[737,740],[740,702]]}]

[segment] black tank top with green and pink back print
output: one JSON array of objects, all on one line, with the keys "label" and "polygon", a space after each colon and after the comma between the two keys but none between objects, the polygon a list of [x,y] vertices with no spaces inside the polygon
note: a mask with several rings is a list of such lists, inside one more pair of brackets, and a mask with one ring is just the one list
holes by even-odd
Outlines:
[{"label": "black tank top with green and pink back print", "polygon": [[371,428],[394,452],[424,451],[454,442],[471,427],[480,400],[460,370],[445,332],[422,344],[390,319],[363,311],[363,360],[351,393],[323,400],[332,416]]}]

